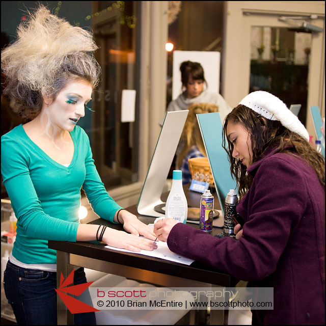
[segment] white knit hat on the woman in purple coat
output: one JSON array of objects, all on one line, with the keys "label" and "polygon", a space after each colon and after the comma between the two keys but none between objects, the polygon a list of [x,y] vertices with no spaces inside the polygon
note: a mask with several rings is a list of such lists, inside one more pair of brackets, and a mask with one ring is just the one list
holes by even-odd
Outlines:
[{"label": "white knit hat on the woman in purple coat", "polygon": [[265,91],[248,94],[239,104],[251,108],[268,120],[278,120],[289,130],[309,141],[309,133],[300,120],[275,95]]}]

